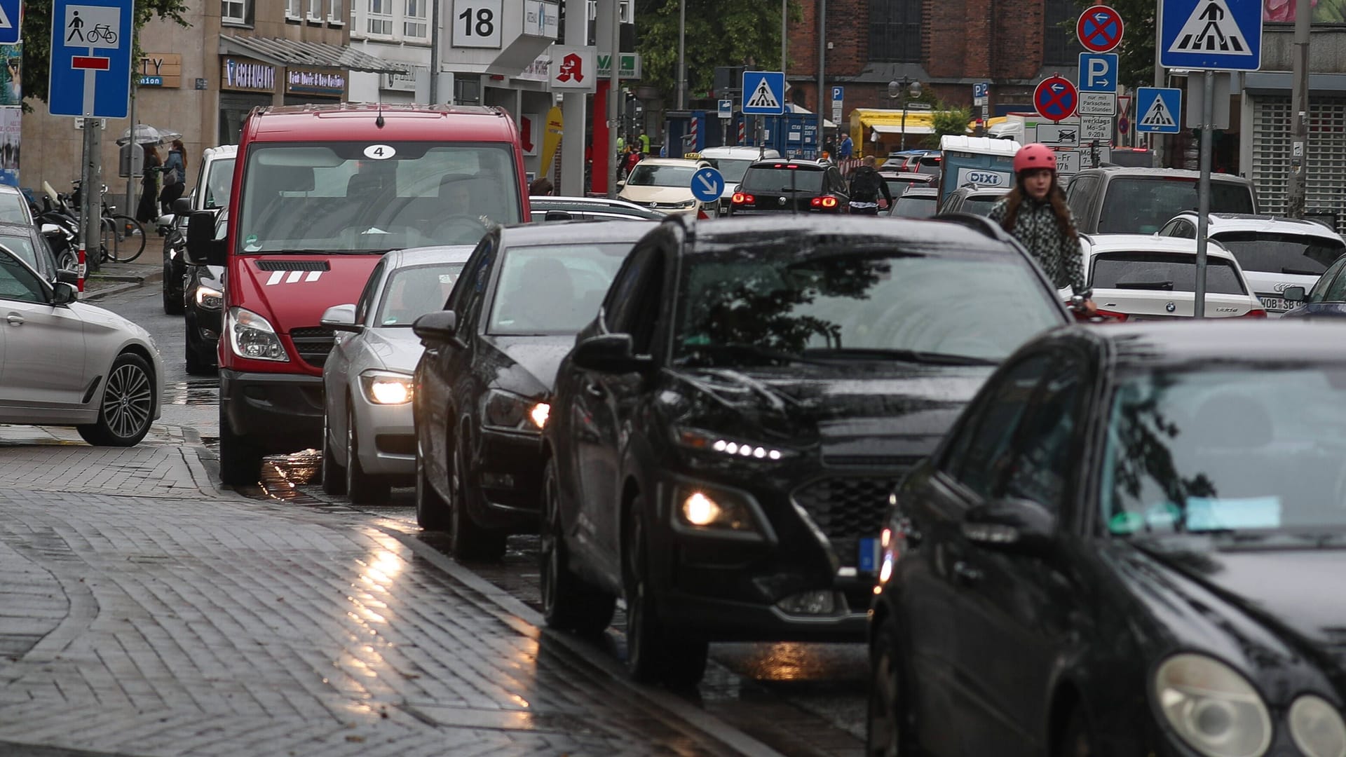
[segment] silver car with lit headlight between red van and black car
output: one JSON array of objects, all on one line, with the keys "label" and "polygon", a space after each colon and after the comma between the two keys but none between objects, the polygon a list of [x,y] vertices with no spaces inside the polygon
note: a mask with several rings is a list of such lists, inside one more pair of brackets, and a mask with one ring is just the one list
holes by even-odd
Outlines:
[{"label": "silver car with lit headlight between red van and black car", "polygon": [[323,490],[353,502],[388,497],[416,473],[412,373],[421,343],[412,322],[443,310],[470,245],[393,251],[354,304],[323,314],[336,330],[323,364]]}]

